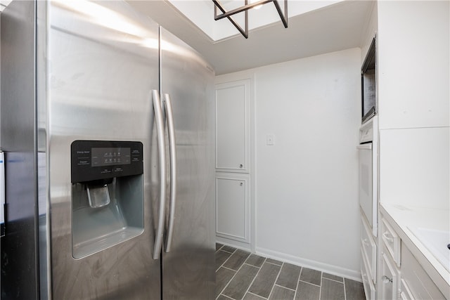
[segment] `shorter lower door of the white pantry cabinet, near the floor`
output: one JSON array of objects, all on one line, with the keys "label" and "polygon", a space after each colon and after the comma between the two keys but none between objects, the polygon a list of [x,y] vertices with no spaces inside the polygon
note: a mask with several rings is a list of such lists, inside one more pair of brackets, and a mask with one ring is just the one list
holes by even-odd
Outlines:
[{"label": "shorter lower door of the white pantry cabinet, near the floor", "polygon": [[216,177],[217,235],[249,242],[249,197],[247,176]]}]

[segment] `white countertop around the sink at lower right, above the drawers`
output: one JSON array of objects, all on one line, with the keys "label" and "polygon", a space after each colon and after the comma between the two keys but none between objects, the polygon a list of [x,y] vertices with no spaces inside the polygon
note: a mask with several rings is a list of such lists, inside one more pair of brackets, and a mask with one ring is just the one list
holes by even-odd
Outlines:
[{"label": "white countertop around the sink at lower right, above the drawers", "polygon": [[450,272],[446,270],[430,250],[418,240],[409,228],[429,228],[450,230],[450,210],[412,207],[398,204],[380,203],[383,217],[394,226],[401,241],[416,257],[425,272],[435,282],[446,299],[450,299]]}]

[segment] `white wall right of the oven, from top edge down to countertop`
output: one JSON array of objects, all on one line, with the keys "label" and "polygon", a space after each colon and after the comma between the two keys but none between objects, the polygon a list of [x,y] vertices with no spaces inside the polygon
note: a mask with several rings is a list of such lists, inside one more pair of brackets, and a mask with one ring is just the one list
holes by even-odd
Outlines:
[{"label": "white wall right of the oven, from top edge down to countertop", "polygon": [[380,202],[450,207],[449,6],[378,2]]}]

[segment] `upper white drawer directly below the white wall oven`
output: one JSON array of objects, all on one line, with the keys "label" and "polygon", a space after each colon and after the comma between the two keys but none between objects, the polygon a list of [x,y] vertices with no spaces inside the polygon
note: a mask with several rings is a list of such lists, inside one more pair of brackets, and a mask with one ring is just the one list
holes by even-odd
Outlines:
[{"label": "upper white drawer directly below the white wall oven", "polygon": [[363,215],[361,215],[361,223],[361,256],[366,260],[367,271],[373,278],[373,283],[376,283],[377,244],[375,244],[372,231]]}]

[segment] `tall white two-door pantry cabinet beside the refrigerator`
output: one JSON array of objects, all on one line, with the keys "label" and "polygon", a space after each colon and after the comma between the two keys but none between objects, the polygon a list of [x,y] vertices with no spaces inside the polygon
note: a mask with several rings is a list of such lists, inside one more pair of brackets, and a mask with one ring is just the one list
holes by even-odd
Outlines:
[{"label": "tall white two-door pantry cabinet beside the refrigerator", "polygon": [[251,79],[216,84],[216,235],[250,246]]}]

